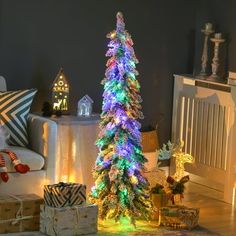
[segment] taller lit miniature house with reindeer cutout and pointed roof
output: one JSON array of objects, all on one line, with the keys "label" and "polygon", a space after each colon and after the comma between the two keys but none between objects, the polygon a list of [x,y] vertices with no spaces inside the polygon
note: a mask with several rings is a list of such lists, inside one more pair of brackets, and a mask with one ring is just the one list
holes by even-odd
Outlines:
[{"label": "taller lit miniature house with reindeer cutout and pointed roof", "polygon": [[61,68],[52,86],[52,104],[54,111],[68,111],[69,84],[63,69]]}]

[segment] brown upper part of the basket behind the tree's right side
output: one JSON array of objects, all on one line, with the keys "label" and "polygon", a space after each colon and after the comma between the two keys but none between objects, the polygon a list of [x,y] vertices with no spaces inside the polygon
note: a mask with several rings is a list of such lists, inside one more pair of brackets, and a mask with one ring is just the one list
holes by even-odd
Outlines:
[{"label": "brown upper part of the basket behind the tree's right side", "polygon": [[141,132],[143,152],[154,152],[160,148],[157,130]]}]

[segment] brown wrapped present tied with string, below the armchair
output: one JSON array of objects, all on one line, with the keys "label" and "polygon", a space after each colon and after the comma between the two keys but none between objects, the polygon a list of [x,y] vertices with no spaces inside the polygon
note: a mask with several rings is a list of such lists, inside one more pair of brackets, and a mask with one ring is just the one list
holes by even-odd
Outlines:
[{"label": "brown wrapped present tied with string, below the armchair", "polygon": [[39,230],[41,204],[35,194],[0,195],[0,233]]}]

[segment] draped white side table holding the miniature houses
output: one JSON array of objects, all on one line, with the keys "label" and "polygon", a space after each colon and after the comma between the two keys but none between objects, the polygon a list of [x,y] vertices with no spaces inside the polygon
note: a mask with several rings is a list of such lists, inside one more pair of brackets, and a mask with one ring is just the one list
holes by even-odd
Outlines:
[{"label": "draped white side table holding the miniature houses", "polygon": [[98,154],[95,141],[98,137],[100,116],[67,115],[50,119],[58,124],[57,182],[85,184],[88,193],[94,185],[92,169]]}]

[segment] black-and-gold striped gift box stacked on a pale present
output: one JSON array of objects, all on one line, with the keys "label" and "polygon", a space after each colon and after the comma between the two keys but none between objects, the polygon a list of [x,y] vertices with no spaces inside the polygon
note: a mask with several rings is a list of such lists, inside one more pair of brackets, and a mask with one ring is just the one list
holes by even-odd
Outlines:
[{"label": "black-and-gold striped gift box stacked on a pale present", "polygon": [[44,185],[44,201],[51,207],[81,205],[86,202],[86,185],[62,182]]}]

